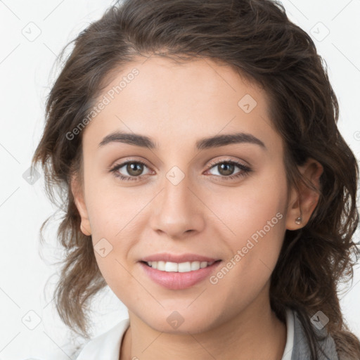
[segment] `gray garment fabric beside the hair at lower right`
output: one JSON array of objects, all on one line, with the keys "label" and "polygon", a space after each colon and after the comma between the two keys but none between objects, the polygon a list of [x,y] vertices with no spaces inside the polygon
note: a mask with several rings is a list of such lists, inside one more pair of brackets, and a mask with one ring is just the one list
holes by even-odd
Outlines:
[{"label": "gray garment fabric beside the hair at lower right", "polygon": [[[297,311],[294,311],[295,317],[295,329],[294,329],[294,347],[291,360],[309,360],[310,348],[307,343],[307,338],[302,328],[300,318],[297,316]],[[315,332],[319,335],[326,335],[326,339],[319,342],[319,346],[323,349],[324,354],[321,350],[318,350],[319,360],[340,360],[338,352],[336,352],[335,342],[333,338],[328,335],[326,328],[319,330],[314,327]]]}]

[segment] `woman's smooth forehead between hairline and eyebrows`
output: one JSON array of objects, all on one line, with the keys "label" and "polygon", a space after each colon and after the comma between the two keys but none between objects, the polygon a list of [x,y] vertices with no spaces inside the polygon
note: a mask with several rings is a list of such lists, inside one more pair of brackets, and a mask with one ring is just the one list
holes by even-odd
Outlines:
[{"label": "woman's smooth forehead between hairline and eyebrows", "polygon": [[92,144],[115,130],[146,134],[159,146],[234,131],[271,144],[281,140],[264,90],[211,59],[137,58],[110,73],[96,104],[101,102],[106,105],[83,134]]}]

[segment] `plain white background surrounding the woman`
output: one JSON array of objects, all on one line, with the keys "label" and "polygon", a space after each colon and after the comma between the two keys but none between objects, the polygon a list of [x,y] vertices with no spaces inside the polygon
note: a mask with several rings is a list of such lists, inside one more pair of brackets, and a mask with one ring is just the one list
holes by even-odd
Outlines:
[{"label": "plain white background surrounding the woman", "polygon": [[[359,160],[360,1],[282,3],[290,20],[311,34],[326,60],[340,103],[338,126]],[[111,4],[0,1],[0,360],[71,359],[70,331],[51,301],[59,270],[52,262],[61,255],[54,226],[46,232],[48,245],[39,248],[40,226],[56,208],[46,198],[42,178],[29,184],[24,174],[44,126],[46,96],[60,70],[53,69],[56,57]],[[360,338],[359,282],[357,266],[352,287],[342,290],[340,303],[349,327]],[[105,290],[94,302],[93,335],[126,317],[124,305]]]}]

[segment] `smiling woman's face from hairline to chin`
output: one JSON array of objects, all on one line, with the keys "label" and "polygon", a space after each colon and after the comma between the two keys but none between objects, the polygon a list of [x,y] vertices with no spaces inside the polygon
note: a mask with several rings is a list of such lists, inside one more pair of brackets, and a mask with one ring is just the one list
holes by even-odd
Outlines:
[{"label": "smiling woman's face from hairline to chin", "polygon": [[[210,330],[269,303],[289,228],[283,141],[264,91],[228,66],[144,60],[113,77],[83,130],[82,231],[129,314],[168,333]],[[176,273],[141,262],[163,253],[221,261]]]}]

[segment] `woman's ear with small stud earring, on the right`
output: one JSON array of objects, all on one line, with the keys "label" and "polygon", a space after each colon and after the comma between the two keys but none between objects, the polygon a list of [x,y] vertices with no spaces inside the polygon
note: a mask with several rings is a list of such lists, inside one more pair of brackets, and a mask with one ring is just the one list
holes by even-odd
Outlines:
[{"label": "woman's ear with small stud earring, on the right", "polygon": [[[308,158],[307,162],[299,167],[301,174],[308,179],[318,190],[321,189],[320,176],[323,173],[323,166],[320,162]],[[286,217],[286,229],[297,230],[302,228],[309,221],[319,201],[319,194],[301,182],[300,192],[292,188],[290,200],[288,203],[288,212]],[[301,217],[302,221],[297,224],[295,220]]]}]

